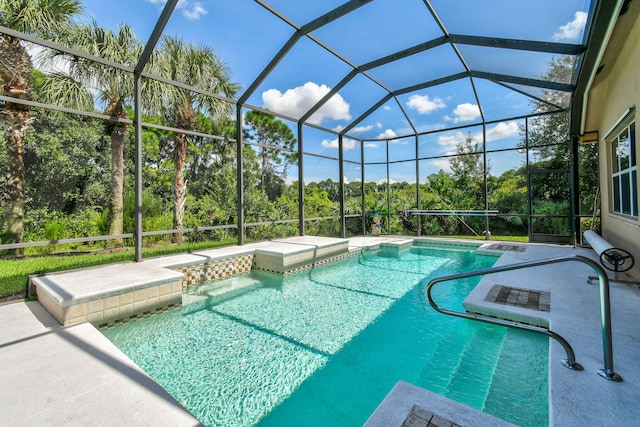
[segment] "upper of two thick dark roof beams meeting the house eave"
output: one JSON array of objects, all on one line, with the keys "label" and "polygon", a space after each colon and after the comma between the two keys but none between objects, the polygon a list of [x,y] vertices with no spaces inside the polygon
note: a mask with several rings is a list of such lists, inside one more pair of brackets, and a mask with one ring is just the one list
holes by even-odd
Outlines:
[{"label": "upper of two thick dark roof beams meeting the house eave", "polygon": [[531,52],[547,52],[560,55],[579,55],[585,50],[585,47],[579,44],[541,42],[536,40],[519,40],[500,37],[470,36],[466,34],[449,34],[449,42],[469,46],[526,50]]}]

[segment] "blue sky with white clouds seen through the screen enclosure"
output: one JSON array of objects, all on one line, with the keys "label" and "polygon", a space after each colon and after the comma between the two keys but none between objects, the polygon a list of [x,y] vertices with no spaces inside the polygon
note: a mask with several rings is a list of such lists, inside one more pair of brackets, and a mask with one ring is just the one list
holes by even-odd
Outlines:
[{"label": "blue sky with white clouds seen through the screen enclosure", "polygon": [[[123,22],[133,27],[146,41],[164,0],[84,0],[85,13],[97,23],[115,29]],[[294,25],[302,26],[344,3],[344,0],[300,1],[268,0]],[[589,12],[586,0],[432,0],[447,31],[452,34],[516,38],[546,42],[580,43]],[[362,22],[366,25],[362,25]],[[249,0],[182,0],[171,17],[166,34],[179,35],[187,41],[207,44],[229,66],[234,81],[245,89],[293,34],[294,29],[276,18],[260,4]],[[374,0],[356,12],[344,16],[312,33],[317,40],[359,66],[369,61],[414,46],[442,35],[422,0]],[[542,75],[552,55],[521,53],[507,49],[459,45],[472,70],[537,78]],[[303,38],[278,64],[248,103],[278,111],[294,118],[334,87],[351,66],[330,55],[314,41]],[[401,61],[370,70],[369,75],[391,90],[399,90],[425,80],[463,72],[464,66],[447,44]],[[480,107],[488,121],[527,114],[530,99],[496,83],[474,79],[456,80],[429,89],[410,92],[392,99],[359,122],[349,133],[357,138],[375,140],[412,134],[402,108],[419,132],[481,123]],[[539,92],[525,88],[532,94]],[[369,78],[359,75],[328,102],[311,122],[340,130],[360,117],[386,94]],[[295,124],[289,123],[295,130]],[[455,144],[467,136],[481,138],[481,126],[421,137],[420,156],[451,154]],[[337,157],[337,138],[328,132],[306,128],[305,150]],[[500,121],[487,127],[487,146],[514,147],[519,140],[518,123]],[[481,141],[481,139],[479,140]],[[411,148],[413,147],[413,148]],[[345,141],[345,157],[359,160],[359,145]],[[390,144],[391,157],[415,155],[415,140],[402,139]],[[491,156],[492,173],[519,166],[520,156]],[[367,141],[365,161],[383,161],[385,143]],[[311,175],[309,164],[316,162]],[[324,160],[310,158],[305,181],[337,179],[337,168],[325,166]],[[329,164],[331,162],[328,162]],[[424,165],[422,164],[424,163]],[[421,181],[425,174],[448,168],[448,162],[421,162]],[[404,164],[401,164],[404,165]],[[394,181],[415,181],[415,165],[394,167]],[[335,169],[335,170],[334,170]],[[294,172],[295,173],[295,172]],[[357,169],[347,176],[359,179]],[[294,177],[290,177],[294,178]],[[372,177],[372,179],[374,179]],[[367,179],[369,180],[369,179]]]}]

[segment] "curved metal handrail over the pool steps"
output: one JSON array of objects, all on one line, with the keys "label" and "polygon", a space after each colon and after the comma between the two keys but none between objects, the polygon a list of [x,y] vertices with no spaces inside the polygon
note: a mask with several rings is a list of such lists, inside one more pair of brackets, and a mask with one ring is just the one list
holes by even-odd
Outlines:
[{"label": "curved metal handrail over the pool steps", "polygon": [[519,322],[506,320],[506,319],[497,319],[493,317],[482,316],[479,314],[461,313],[458,311],[448,310],[436,304],[436,302],[433,300],[433,297],[431,296],[431,290],[433,289],[434,285],[440,282],[446,282],[446,281],[456,280],[456,279],[464,279],[467,277],[474,277],[474,276],[483,276],[486,274],[500,273],[503,271],[520,270],[523,268],[557,264],[557,263],[569,262],[569,261],[578,261],[578,262],[587,264],[591,268],[593,268],[595,272],[598,274],[598,280],[600,282],[600,311],[602,315],[602,344],[604,348],[604,369],[598,369],[598,375],[610,381],[620,382],[622,381],[622,377],[616,374],[613,370],[613,343],[611,339],[611,303],[610,303],[610,297],[609,297],[609,278],[607,277],[606,271],[600,266],[600,264],[598,264],[596,261],[590,258],[581,256],[581,255],[569,255],[569,256],[556,257],[556,258],[545,258],[545,259],[540,259],[535,261],[526,261],[526,262],[521,262],[516,264],[503,265],[500,267],[491,267],[491,268],[486,268],[482,270],[469,271],[466,273],[458,273],[458,274],[451,274],[448,276],[436,277],[429,281],[425,289],[425,292],[427,294],[427,299],[429,300],[429,304],[431,304],[431,307],[433,307],[436,311],[440,313],[448,314],[456,317],[462,317],[464,319],[477,320],[480,322],[493,323],[496,325],[502,325],[510,328],[536,332],[536,333],[547,335],[553,338],[558,343],[560,343],[562,347],[564,347],[564,350],[567,353],[566,359],[562,359],[562,362],[561,362],[562,365],[565,366],[566,368],[573,369],[575,371],[582,371],[583,367],[582,365],[576,362],[576,357],[575,357],[575,353],[573,352],[573,348],[571,348],[571,345],[567,342],[567,340],[565,340],[561,335],[547,328],[528,325],[525,323],[519,323]]}]

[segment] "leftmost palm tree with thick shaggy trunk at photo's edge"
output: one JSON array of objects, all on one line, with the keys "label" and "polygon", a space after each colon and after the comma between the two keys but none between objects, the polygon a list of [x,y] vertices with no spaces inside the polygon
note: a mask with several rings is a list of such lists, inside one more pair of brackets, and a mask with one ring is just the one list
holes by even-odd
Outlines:
[{"label": "leftmost palm tree with thick shaggy trunk at photo's edge", "polygon": [[[48,38],[72,23],[82,11],[78,0],[0,0],[0,25],[27,34]],[[0,34],[0,84],[2,94],[31,100],[33,63],[24,43],[16,37]],[[20,243],[24,231],[24,137],[32,123],[26,105],[0,104],[0,125],[7,147],[8,171],[4,188],[3,243]],[[14,251],[22,255],[22,249]]]}]

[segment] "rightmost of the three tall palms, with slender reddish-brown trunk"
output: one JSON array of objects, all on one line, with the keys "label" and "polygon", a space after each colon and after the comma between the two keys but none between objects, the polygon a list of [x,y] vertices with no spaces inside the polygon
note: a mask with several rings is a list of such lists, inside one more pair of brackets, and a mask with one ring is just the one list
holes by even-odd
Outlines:
[{"label": "rightmost of the three tall palms, with slender reddish-brown trunk", "polygon": [[[230,71],[217,57],[213,49],[204,45],[184,42],[172,36],[162,38],[155,72],[170,80],[193,86],[202,91],[233,97],[240,86],[230,81]],[[187,91],[177,87],[165,88],[165,101],[159,105],[159,112],[172,126],[185,129],[198,129],[198,112],[206,112],[211,118],[229,115],[232,105],[223,100]],[[184,226],[184,205],[187,183],[184,168],[187,160],[189,137],[186,134],[174,135],[172,160],[173,178],[173,228]],[[182,242],[182,233],[173,234],[173,243]]]}]

